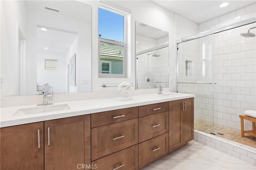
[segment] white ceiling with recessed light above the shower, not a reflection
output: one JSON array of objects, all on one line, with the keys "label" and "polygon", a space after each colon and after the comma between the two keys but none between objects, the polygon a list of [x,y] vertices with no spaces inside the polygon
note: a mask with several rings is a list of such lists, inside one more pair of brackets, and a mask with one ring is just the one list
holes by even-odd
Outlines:
[{"label": "white ceiling with recessed light above the shower, not a reflection", "polygon": [[[176,12],[195,23],[202,23],[255,3],[255,0],[152,0],[155,4]],[[220,8],[220,4],[229,5]]]}]

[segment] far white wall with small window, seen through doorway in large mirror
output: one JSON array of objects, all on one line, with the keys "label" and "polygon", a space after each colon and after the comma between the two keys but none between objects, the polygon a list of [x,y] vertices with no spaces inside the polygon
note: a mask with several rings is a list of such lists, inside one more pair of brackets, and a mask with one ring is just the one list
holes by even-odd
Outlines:
[{"label": "far white wall with small window, seen through doorway in large mirror", "polygon": [[[45,59],[57,61],[56,70],[45,70]],[[68,92],[68,80],[66,76],[66,56],[58,53],[37,52],[37,85],[49,83],[50,92]]]}]

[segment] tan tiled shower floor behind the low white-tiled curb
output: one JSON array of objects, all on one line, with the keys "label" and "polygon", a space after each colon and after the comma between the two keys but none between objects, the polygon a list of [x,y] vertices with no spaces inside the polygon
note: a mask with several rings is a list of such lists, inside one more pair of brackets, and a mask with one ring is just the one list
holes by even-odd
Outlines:
[{"label": "tan tiled shower floor behind the low white-tiled curb", "polygon": [[[194,128],[201,131],[205,131],[207,133],[214,132],[218,137],[222,137],[231,141],[235,141],[237,143],[247,145],[249,147],[256,148],[256,137],[247,135],[246,133],[244,134],[244,137],[241,137],[241,131],[236,129],[232,129],[222,125],[216,125],[214,123],[210,123],[203,120],[195,120]],[[217,132],[224,133],[224,135],[219,135],[217,134]]]}]

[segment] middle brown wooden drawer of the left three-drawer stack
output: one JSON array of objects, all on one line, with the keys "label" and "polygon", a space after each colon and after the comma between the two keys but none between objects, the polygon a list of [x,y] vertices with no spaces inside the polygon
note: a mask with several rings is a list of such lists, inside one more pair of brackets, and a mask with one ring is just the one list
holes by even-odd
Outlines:
[{"label": "middle brown wooden drawer of the left three-drawer stack", "polygon": [[138,143],[138,119],[92,128],[92,160]]}]

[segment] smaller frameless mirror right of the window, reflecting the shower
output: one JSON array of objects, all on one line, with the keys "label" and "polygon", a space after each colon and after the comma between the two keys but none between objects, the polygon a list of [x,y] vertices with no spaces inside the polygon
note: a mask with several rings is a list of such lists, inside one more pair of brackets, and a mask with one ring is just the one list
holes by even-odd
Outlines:
[{"label": "smaller frameless mirror right of the window, reflecting the shower", "polygon": [[136,89],[169,87],[168,35],[136,21]]}]

